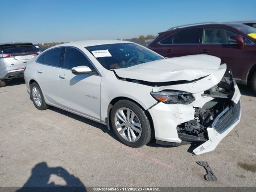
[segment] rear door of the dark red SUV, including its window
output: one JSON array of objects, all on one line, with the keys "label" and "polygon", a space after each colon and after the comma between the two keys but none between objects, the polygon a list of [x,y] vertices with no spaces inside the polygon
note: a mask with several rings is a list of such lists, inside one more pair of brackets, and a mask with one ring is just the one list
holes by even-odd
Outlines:
[{"label": "rear door of the dark red SUV, including its window", "polygon": [[176,32],[158,42],[162,47],[162,53],[158,53],[164,57],[198,54],[199,36],[199,28]]}]

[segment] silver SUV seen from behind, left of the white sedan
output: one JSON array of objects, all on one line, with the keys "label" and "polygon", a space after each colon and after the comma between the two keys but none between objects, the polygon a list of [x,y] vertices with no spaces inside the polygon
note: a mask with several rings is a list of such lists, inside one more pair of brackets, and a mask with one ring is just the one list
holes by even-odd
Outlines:
[{"label": "silver SUV seen from behind, left of the white sedan", "polygon": [[39,54],[32,43],[0,44],[0,87],[6,80],[23,77],[25,66]]}]

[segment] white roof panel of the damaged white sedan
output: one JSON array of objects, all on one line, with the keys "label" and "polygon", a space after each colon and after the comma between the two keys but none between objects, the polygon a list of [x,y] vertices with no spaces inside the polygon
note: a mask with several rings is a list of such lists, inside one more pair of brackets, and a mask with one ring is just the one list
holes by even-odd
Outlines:
[{"label": "white roof panel of the damaged white sedan", "polygon": [[[68,45],[78,45],[82,47],[95,46],[95,45],[105,45],[105,44],[116,44],[116,43],[132,43],[129,41],[121,41],[121,40],[86,40],[86,41],[74,41],[68,42],[64,44],[60,44],[58,46],[68,46]],[[55,46],[57,47],[57,46]]]}]

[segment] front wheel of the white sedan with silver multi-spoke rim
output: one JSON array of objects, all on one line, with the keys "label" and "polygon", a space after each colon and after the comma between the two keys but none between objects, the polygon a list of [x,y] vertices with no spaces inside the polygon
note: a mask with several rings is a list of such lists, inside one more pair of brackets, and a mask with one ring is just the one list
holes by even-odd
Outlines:
[{"label": "front wheel of the white sedan with silver multi-spoke rim", "polygon": [[145,111],[129,100],[120,100],[114,104],[110,120],[112,129],[122,143],[139,148],[151,139],[152,128]]}]

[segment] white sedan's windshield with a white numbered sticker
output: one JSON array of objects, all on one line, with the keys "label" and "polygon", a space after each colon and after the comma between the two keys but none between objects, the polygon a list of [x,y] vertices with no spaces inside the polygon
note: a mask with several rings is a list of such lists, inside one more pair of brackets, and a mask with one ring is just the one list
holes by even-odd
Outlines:
[{"label": "white sedan's windshield with a white numbered sticker", "polygon": [[86,47],[108,70],[160,60],[164,57],[134,43],[117,43]]}]

